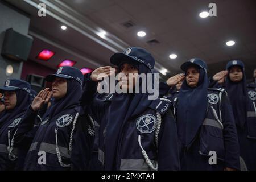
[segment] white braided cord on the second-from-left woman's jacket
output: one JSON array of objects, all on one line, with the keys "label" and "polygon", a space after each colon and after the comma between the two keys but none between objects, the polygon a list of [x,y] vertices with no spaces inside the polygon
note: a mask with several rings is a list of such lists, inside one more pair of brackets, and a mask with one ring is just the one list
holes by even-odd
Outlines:
[{"label": "white braided cord on the second-from-left woman's jacket", "polygon": [[[76,113],[75,119],[73,121],[73,127],[72,127],[71,134],[70,134],[70,141],[69,141],[69,152],[70,152],[70,154],[71,154],[71,151],[72,151],[73,131],[75,130],[76,121],[77,121],[78,116],[79,116],[79,113]],[[57,154],[58,161],[59,161],[61,167],[70,167],[70,164],[64,164],[62,162],[61,155],[60,155],[60,148],[58,146],[57,131],[58,131],[58,127],[55,128],[56,154]]]}]

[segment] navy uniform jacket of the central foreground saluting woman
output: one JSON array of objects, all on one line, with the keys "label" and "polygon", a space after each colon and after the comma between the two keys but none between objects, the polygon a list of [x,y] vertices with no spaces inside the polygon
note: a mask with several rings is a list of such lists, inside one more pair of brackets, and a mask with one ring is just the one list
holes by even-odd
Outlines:
[{"label": "navy uniform jacket of the central foreground saluting woman", "polygon": [[[110,110],[112,94],[105,101],[93,99],[96,86],[97,82],[86,83],[82,102],[100,123],[98,160],[104,166],[105,159],[108,158],[105,155],[105,131],[108,123],[104,118]],[[146,125],[144,122],[151,124]],[[171,101],[160,98],[154,100],[143,113],[130,118],[122,127],[116,150],[116,170],[152,170],[156,166],[159,170],[179,170],[179,147]],[[147,162],[142,153],[147,154]],[[148,164],[149,161],[152,167]]]}]

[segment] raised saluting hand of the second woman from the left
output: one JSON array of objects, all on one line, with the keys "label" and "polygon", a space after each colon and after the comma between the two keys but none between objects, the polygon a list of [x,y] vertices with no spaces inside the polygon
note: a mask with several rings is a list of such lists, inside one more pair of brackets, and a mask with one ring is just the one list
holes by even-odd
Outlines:
[{"label": "raised saluting hand of the second woman from the left", "polygon": [[49,91],[49,88],[41,90],[32,101],[32,104],[31,104],[32,110],[38,111],[39,109],[41,109],[44,104],[47,104],[49,102],[49,99],[51,98],[51,96],[52,96],[52,92]]}]

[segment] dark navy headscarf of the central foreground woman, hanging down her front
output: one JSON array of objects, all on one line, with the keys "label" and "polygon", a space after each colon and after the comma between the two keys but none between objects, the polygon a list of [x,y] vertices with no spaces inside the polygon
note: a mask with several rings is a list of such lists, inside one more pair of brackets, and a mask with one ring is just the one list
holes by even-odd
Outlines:
[{"label": "dark navy headscarf of the central foreground woman, hanging down her front", "polygon": [[[144,64],[138,64],[139,74],[152,73],[151,69]],[[137,80],[139,81],[139,80]],[[154,88],[154,76],[152,78],[152,88]],[[141,82],[140,82],[141,89]],[[121,138],[123,126],[129,119],[143,113],[151,104],[148,100],[148,93],[114,93],[110,105],[110,111],[107,115],[108,125],[106,127],[106,145],[105,145],[105,170],[114,170],[116,165],[116,152],[119,148],[118,142]],[[115,154],[113,154],[113,152]]]}]

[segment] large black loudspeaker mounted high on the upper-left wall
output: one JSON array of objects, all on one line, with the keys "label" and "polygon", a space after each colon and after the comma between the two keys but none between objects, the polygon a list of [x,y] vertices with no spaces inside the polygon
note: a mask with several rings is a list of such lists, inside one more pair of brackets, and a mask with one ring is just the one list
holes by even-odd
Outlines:
[{"label": "large black loudspeaker mounted high on the upper-left wall", "polygon": [[1,55],[17,61],[27,61],[33,38],[9,28],[5,32]]}]

